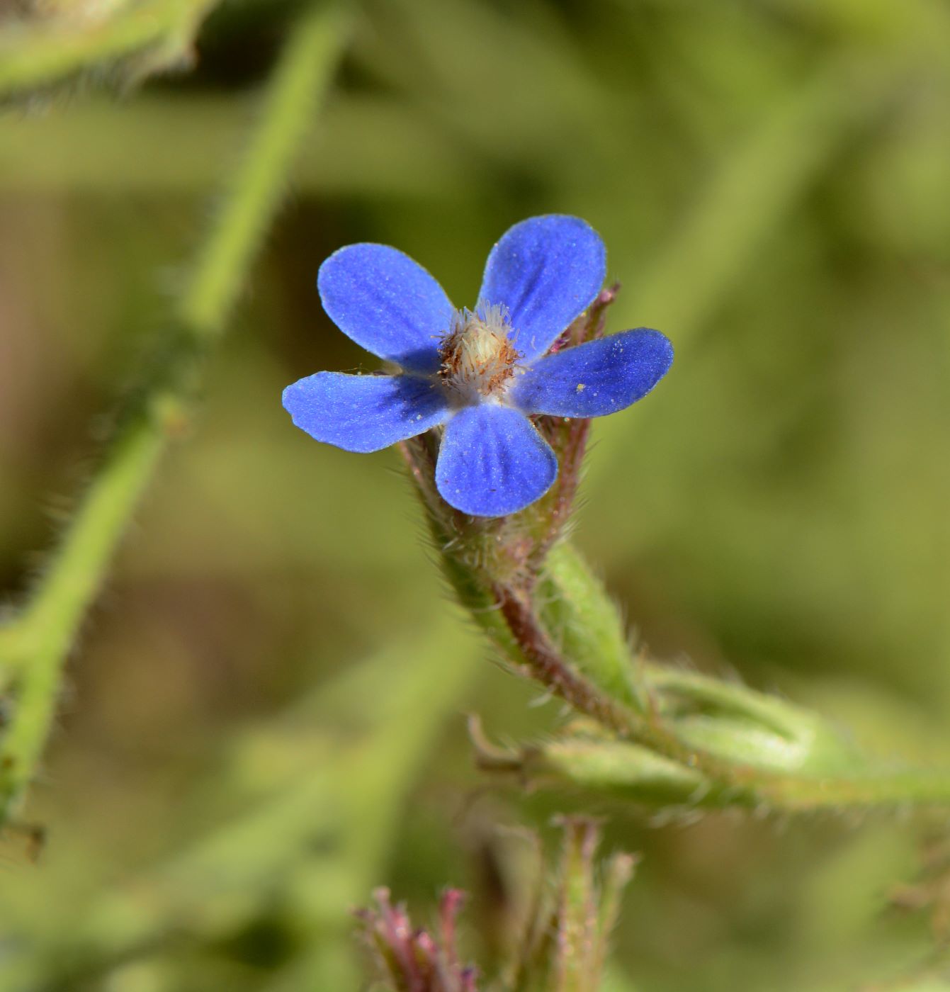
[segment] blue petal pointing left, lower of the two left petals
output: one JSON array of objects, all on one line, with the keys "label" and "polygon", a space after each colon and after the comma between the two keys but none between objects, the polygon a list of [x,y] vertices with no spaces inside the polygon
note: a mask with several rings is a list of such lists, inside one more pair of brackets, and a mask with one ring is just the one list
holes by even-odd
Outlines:
[{"label": "blue petal pointing left, lower of the two left petals", "polygon": [[284,390],[300,430],[346,451],[379,451],[415,437],[448,413],[441,387],[410,375],[317,372]]}]

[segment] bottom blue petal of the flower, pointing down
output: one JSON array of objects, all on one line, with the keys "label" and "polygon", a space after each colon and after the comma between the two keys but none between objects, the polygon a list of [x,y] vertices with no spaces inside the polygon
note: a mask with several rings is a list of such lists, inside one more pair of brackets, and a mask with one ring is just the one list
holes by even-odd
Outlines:
[{"label": "bottom blue petal of the flower, pointing down", "polygon": [[543,496],[557,458],[532,422],[510,407],[465,407],[448,422],[435,465],[446,503],[476,517],[502,517]]}]

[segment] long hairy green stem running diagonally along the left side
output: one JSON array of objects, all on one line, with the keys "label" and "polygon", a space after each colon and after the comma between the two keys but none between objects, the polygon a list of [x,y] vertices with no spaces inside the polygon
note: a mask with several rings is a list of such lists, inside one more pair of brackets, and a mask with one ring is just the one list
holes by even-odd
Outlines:
[{"label": "long hairy green stem running diagonally along the left side", "polygon": [[0,655],[0,674],[19,676],[17,705],[0,742],[0,817],[33,777],[69,648],[168,440],[178,433],[203,351],[225,329],[345,36],[335,6],[319,6],[298,24],[271,84],[262,125],[198,255],[168,356],[113,442],[25,613],[0,641],[0,651],[9,649]]}]

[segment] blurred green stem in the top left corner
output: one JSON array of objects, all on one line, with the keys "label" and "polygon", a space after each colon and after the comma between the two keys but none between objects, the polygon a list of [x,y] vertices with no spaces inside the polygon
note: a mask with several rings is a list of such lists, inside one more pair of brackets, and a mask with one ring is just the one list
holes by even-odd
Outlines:
[{"label": "blurred green stem in the top left corner", "polygon": [[105,23],[70,21],[8,27],[0,43],[0,97],[61,82],[150,50],[161,63],[182,60],[197,26],[218,0],[149,0],[130,5]]}]

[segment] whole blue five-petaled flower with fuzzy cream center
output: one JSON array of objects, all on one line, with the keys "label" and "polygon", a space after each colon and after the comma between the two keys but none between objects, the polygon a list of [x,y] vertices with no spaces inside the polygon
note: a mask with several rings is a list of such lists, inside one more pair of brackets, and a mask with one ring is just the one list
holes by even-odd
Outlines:
[{"label": "whole blue five-petaled flower with fuzzy cream center", "polygon": [[602,417],[646,396],[672,362],[640,328],[545,354],[596,299],[597,232],[548,214],[510,228],[485,264],[475,310],[456,310],[409,256],[347,245],[321,266],[323,309],[395,375],[317,372],[284,391],[298,428],[347,451],[378,451],[441,428],[435,483],[463,513],[500,517],[543,496],[557,458],[529,419]]}]

